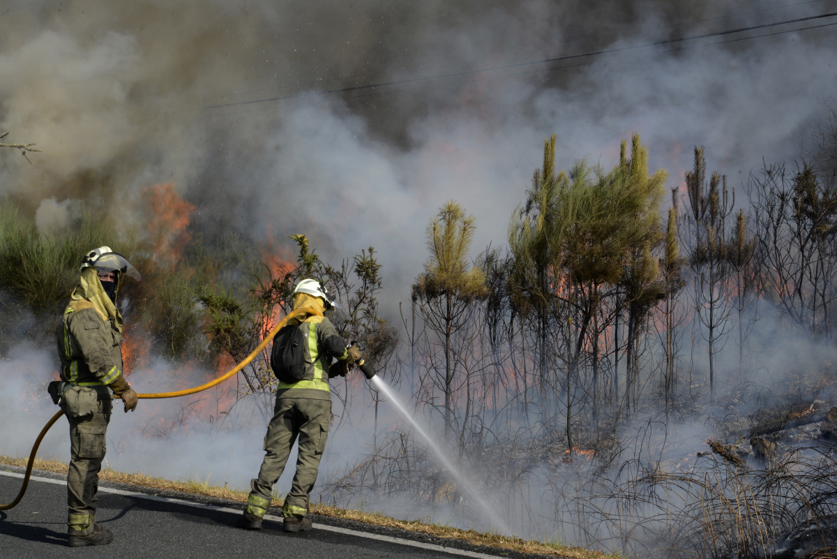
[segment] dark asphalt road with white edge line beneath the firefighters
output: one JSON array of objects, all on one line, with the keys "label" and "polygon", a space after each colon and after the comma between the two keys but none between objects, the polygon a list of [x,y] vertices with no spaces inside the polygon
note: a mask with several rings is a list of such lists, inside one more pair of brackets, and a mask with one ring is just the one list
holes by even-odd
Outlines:
[{"label": "dark asphalt road with white edge line beneath the firefighters", "polygon": [[[17,495],[22,469],[0,466],[0,503]],[[522,557],[506,550],[468,546],[413,532],[312,515],[315,528],[282,531],[279,518],[265,517],[261,531],[235,526],[240,505],[190,495],[153,495],[144,488],[101,483],[96,520],[114,532],[109,546],[66,546],[67,489],[56,474],[36,472],[23,501],[0,511],[0,557],[107,557],[108,559],[213,559],[237,557]],[[235,507],[235,508],[231,508]],[[270,510],[274,512],[274,510]],[[83,551],[80,551],[83,550]],[[530,556],[531,557],[531,556]]]}]

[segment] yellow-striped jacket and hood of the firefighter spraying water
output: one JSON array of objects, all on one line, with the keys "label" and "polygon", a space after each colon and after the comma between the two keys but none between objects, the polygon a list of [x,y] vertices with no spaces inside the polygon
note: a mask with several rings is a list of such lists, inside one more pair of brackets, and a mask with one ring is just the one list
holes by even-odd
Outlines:
[{"label": "yellow-striped jacket and hood of the firefighter spraying water", "polygon": [[[324,311],[321,298],[306,293],[295,294],[293,303],[294,310],[307,306]],[[332,357],[346,361],[349,355],[346,341],[337,334],[334,325],[325,316],[309,315],[302,321],[295,319],[289,324],[294,322],[302,331],[303,340],[308,342],[305,348],[306,377],[297,382],[280,382],[276,397],[303,397],[331,402],[329,365]]]}]

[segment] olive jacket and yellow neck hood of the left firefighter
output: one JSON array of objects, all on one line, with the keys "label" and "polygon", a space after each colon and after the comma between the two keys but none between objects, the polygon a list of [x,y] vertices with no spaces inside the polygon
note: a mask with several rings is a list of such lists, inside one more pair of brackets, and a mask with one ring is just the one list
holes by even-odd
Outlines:
[{"label": "olive jacket and yellow neck hood of the left firefighter", "polygon": [[121,331],[122,316],[95,269],[83,269],[57,332],[61,380],[110,399],[107,386],[122,377]]}]

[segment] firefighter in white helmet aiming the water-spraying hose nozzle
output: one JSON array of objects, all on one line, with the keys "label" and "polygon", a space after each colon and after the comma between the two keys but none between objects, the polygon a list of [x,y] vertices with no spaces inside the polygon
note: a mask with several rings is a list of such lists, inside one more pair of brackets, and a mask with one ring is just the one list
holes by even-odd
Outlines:
[{"label": "firefighter in white helmet aiming the water-spraying hose nozzle", "polygon": [[[295,287],[292,302],[294,310],[313,307],[322,313],[331,308],[328,292],[316,280],[301,280]],[[306,518],[308,498],[316,482],[331,423],[328,379],[346,371],[344,367],[351,367],[360,357],[357,348],[347,349],[346,341],[325,316],[307,315],[289,324],[300,328],[303,340],[308,342],[306,377],[297,382],[280,382],[276,390],[274,416],[264,436],[266,454],[259,477],[250,482],[252,490],[244,510],[242,526],[250,530],[261,528],[273,486],[285,469],[297,438],[299,455],[293,485],[282,507],[283,529],[295,532],[311,528],[311,521]],[[330,366],[332,357],[337,361]]]}]

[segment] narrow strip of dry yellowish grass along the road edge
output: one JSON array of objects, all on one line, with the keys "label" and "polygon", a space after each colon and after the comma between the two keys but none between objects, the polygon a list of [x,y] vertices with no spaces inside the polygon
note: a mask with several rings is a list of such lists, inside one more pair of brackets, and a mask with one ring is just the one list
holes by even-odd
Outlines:
[{"label": "narrow strip of dry yellowish grass along the road edge", "polygon": [[[0,455],[0,464],[26,467],[26,463],[27,459],[25,458],[12,458],[10,456]],[[55,472],[57,474],[67,473],[67,464],[59,462],[58,460],[35,459],[33,468],[47,472]],[[99,474],[99,478],[100,480],[115,481],[116,483],[141,485],[142,487],[147,487],[153,490],[181,491],[183,493],[191,493],[193,495],[206,495],[217,499],[235,500],[240,502],[245,502],[248,495],[246,491],[231,490],[226,487],[209,485],[208,480],[172,481],[152,477],[146,474],[124,474],[122,472],[117,472],[114,469],[102,469]],[[280,507],[282,502],[283,501],[280,499],[275,499],[270,503],[270,505]],[[428,536],[467,541],[468,543],[479,546],[499,547],[521,553],[571,557],[573,559],[615,559],[619,557],[618,555],[608,555],[607,553],[603,553],[601,551],[590,551],[582,547],[564,546],[560,543],[522,540],[521,538],[501,536],[499,534],[478,532],[475,530],[460,530],[459,528],[440,526],[437,524],[426,524],[421,521],[399,521],[398,519],[390,516],[381,515],[376,512],[367,512],[364,510],[344,510],[339,509],[336,506],[316,505],[315,503],[311,503],[311,513],[316,515],[331,516],[333,518],[341,518],[347,521],[364,522],[374,526],[403,528],[404,530],[418,532]]]}]

